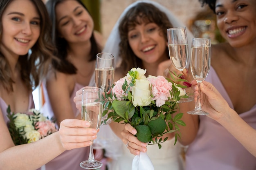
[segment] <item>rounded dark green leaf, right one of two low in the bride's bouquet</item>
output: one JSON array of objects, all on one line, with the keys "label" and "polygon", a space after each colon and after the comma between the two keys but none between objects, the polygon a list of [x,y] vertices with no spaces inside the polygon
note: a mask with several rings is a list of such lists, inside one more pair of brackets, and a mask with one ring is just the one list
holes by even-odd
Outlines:
[{"label": "rounded dark green leaf, right one of two low in the bride's bouquet", "polygon": [[161,134],[165,130],[166,122],[163,119],[158,118],[148,122],[148,126],[150,127],[152,134]]}]

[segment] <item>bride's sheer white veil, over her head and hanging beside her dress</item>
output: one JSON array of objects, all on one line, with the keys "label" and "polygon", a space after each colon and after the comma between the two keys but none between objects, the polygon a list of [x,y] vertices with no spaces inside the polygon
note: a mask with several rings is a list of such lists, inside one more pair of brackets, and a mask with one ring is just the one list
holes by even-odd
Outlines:
[{"label": "bride's sheer white veil, over her head and hanging beside her dress", "polygon": [[[164,12],[167,15],[171,24],[173,25],[173,27],[185,26],[185,24],[180,22],[175,17],[175,15],[173,15],[173,13],[171,13],[166,7],[162,6],[161,4],[159,4],[157,2],[153,2],[150,0],[139,0],[139,1],[136,1],[132,4],[130,4],[124,10],[124,12],[120,15],[119,19],[117,20],[117,23],[113,27],[113,29],[108,37],[108,40],[106,41],[105,47],[103,48],[103,52],[114,54],[114,56],[116,58],[116,61],[115,61],[116,67],[118,67],[121,64],[121,58],[119,57],[119,43],[121,41],[120,35],[119,35],[119,30],[118,30],[119,24],[120,24],[122,18],[126,15],[127,11],[129,11],[132,7],[134,7],[135,5],[137,5],[138,3],[141,3],[141,2],[153,4],[155,7],[160,9],[160,11]],[[189,46],[191,46],[191,40],[193,38],[193,35],[189,30],[186,30],[186,31],[187,31]],[[104,141],[104,139],[106,139],[106,140]],[[118,157],[122,155],[121,146],[124,144],[121,141],[121,139],[119,139],[114,134],[114,132],[111,130],[109,125],[101,126],[100,131],[97,134],[97,139],[94,141],[96,141],[96,143],[99,142],[103,146],[103,148],[105,148],[105,150],[106,150],[105,155],[107,157],[112,157],[112,159],[118,159]]]}]

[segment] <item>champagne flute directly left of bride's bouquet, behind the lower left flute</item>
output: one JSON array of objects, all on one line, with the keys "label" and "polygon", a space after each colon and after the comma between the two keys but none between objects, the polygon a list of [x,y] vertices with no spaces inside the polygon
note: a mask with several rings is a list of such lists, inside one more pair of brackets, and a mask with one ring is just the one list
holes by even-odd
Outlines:
[{"label": "champagne flute directly left of bride's bouquet, behind the lower left flute", "polygon": [[[102,92],[108,93],[112,88],[115,74],[115,56],[111,53],[98,53],[95,66],[95,84]],[[102,118],[102,125],[109,124],[108,115]],[[106,120],[107,119],[107,120]]]}]

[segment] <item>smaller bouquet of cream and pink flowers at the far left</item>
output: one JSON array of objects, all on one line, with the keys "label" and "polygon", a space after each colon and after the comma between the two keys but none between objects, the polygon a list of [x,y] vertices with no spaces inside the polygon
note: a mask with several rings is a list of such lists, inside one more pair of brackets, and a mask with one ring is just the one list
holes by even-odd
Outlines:
[{"label": "smaller bouquet of cream and pink flowers at the far left", "polygon": [[9,132],[15,145],[31,143],[57,131],[54,122],[35,109],[14,114],[8,106],[7,117],[10,120]]}]

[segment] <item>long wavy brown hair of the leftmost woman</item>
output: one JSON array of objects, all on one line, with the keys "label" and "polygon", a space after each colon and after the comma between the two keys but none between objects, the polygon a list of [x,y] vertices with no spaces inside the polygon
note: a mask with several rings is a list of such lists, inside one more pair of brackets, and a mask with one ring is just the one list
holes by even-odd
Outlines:
[{"label": "long wavy brown hair of the leftmost woman", "polygon": [[[22,55],[18,59],[17,68],[20,70],[20,76],[29,91],[38,86],[40,80],[47,74],[48,66],[52,61],[52,54],[55,50],[51,39],[51,20],[42,0],[30,0],[40,16],[40,35],[34,46],[31,47],[31,53]],[[2,15],[5,9],[13,0],[0,1],[0,40],[2,39]],[[1,43],[1,42],[0,42]],[[6,57],[0,51],[0,82],[8,91],[13,91],[14,80],[11,77],[11,68]]]}]

